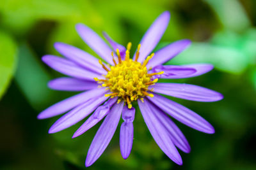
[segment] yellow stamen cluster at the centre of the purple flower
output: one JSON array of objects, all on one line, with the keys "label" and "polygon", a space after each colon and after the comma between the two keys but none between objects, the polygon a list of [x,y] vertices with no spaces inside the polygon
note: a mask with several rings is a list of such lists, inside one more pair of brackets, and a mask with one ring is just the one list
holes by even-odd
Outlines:
[{"label": "yellow stamen cluster at the centre of the purple flower", "polygon": [[106,87],[106,89],[109,89],[112,92],[111,94],[106,94],[106,97],[118,96],[118,103],[124,100],[125,103],[127,103],[128,108],[132,107],[132,101],[136,101],[137,99],[141,99],[141,101],[143,101],[143,97],[145,96],[154,97],[153,94],[148,93],[148,91],[152,91],[152,89],[148,90],[148,87],[150,85],[154,85],[158,79],[153,79],[152,76],[156,74],[163,74],[163,71],[159,73],[147,73],[148,70],[146,65],[148,60],[154,56],[154,53],[148,56],[141,64],[140,62],[137,62],[140,54],[140,45],[138,45],[135,60],[130,59],[130,49],[131,43],[128,43],[127,50],[125,52],[125,60],[121,59],[120,52],[116,49],[118,63],[116,63],[112,52],[111,54],[113,56],[115,66],[111,66],[110,69],[102,64],[101,60],[99,60],[99,63],[106,71],[108,71],[108,74],[105,75],[106,80],[99,80],[98,78],[95,78],[95,81],[102,83],[102,87]]}]

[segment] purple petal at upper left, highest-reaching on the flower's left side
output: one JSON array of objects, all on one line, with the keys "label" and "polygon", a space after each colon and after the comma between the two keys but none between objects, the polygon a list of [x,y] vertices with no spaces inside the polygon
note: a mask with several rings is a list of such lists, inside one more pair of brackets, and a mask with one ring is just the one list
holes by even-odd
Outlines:
[{"label": "purple petal at upper left, highest-reaching on the flower's left side", "polygon": [[77,24],[76,31],[84,42],[90,46],[102,59],[106,60],[109,64],[113,65],[111,56],[111,48],[100,38],[96,32],[92,31],[89,27],[84,24]]}]

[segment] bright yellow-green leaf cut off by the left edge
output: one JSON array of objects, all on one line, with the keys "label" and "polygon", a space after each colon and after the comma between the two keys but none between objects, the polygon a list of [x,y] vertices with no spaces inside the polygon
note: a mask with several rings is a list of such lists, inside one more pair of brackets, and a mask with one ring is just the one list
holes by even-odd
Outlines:
[{"label": "bright yellow-green leaf cut off by the left edge", "polygon": [[10,84],[17,61],[17,45],[5,32],[0,31],[0,99]]}]

